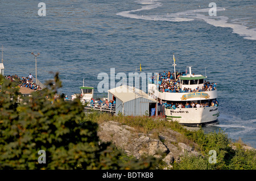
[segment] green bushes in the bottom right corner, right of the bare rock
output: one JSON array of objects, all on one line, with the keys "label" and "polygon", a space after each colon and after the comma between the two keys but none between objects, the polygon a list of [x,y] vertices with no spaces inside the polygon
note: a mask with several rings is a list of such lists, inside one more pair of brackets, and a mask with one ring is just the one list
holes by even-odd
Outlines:
[{"label": "green bushes in the bottom right corner, right of the bare rock", "polygon": [[[189,133],[188,136],[192,137],[201,146],[203,155],[196,157],[195,155],[185,154],[184,157],[181,157],[180,163],[174,163],[174,169],[255,170],[256,168],[256,151],[244,150],[242,147],[233,150],[230,148],[231,140],[221,130],[218,133],[208,134],[202,134],[202,132]],[[217,163],[209,163],[210,150],[216,151]]]}]

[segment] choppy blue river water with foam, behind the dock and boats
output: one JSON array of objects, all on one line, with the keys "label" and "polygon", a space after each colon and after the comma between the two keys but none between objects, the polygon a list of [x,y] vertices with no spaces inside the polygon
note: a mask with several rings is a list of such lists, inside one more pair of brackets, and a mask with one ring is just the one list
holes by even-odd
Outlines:
[{"label": "choppy blue river water with foam, behind the dock and boats", "polygon": [[193,66],[217,82],[219,125],[234,140],[255,144],[255,1],[44,1],[46,16],[38,16],[40,1],[0,1],[0,45],[5,74],[35,77],[41,82],[59,71],[63,91],[79,92],[82,79],[97,87],[97,75],[146,73]]}]

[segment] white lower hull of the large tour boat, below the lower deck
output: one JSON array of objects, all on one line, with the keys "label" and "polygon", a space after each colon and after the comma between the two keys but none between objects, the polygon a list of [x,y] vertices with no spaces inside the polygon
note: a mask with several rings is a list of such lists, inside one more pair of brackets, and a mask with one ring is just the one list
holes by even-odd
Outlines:
[{"label": "white lower hull of the large tour boat, below the lower deck", "polygon": [[217,106],[165,109],[165,114],[168,121],[177,121],[179,124],[191,126],[216,123],[220,115]]}]

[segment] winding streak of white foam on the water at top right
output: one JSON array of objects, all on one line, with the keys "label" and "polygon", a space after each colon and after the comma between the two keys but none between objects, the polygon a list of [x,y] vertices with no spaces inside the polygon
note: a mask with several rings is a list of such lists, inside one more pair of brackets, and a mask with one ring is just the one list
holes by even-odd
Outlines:
[{"label": "winding streak of white foam on the water at top right", "polygon": [[[248,29],[242,23],[242,19],[248,19],[248,18],[241,18],[239,19],[239,22],[236,22],[236,20],[230,20],[230,23],[228,23],[229,18],[227,16],[209,16],[200,14],[200,12],[208,12],[210,8],[206,9],[197,9],[197,10],[188,10],[188,11],[181,11],[181,12],[175,12],[175,13],[168,13],[167,15],[136,15],[131,14],[133,12],[143,11],[143,10],[151,10],[155,9],[157,7],[162,6],[162,3],[159,2],[159,0],[144,0],[144,1],[135,1],[137,3],[147,5],[142,6],[141,9],[137,10],[131,10],[131,11],[122,11],[118,12],[116,15],[118,16],[125,16],[127,18],[134,18],[134,19],[144,19],[144,20],[162,20],[162,21],[168,21],[168,22],[189,22],[195,19],[204,20],[206,23],[211,24],[215,27],[224,27],[224,28],[232,28],[232,32],[236,33],[240,36],[243,36],[244,39],[249,40],[256,40],[256,28]],[[217,7],[217,11],[225,11],[228,7]]]}]

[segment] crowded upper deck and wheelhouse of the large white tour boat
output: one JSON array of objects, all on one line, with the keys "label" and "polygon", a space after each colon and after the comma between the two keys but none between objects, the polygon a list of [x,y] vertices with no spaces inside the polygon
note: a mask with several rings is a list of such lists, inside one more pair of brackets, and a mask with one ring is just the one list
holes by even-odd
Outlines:
[{"label": "crowded upper deck and wheelhouse of the large white tour boat", "polygon": [[156,84],[148,85],[148,94],[154,98],[171,101],[216,99],[216,83],[206,82],[205,78],[207,77],[201,74],[191,74],[191,67],[189,74],[179,75],[177,79],[160,74]]}]

